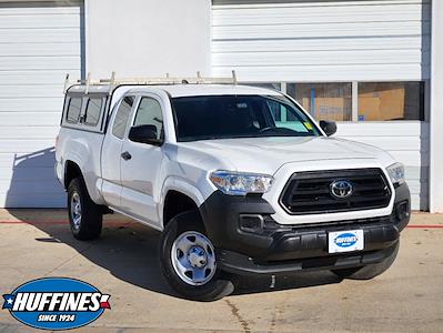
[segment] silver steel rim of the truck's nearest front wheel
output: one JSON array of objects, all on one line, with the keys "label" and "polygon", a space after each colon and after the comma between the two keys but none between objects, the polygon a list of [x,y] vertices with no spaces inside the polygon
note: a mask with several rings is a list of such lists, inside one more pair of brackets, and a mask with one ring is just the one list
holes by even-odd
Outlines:
[{"label": "silver steel rim of the truck's nearest front wheel", "polygon": [[211,241],[197,231],[177,238],[171,250],[177,275],[190,285],[208,283],[215,274],[215,253]]}]

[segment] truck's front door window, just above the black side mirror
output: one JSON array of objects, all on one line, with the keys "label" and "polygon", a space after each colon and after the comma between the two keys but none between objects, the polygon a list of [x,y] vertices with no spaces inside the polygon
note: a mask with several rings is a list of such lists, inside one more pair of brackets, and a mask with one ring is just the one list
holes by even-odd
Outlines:
[{"label": "truck's front door window, just above the black side mirror", "polygon": [[161,113],[161,107],[157,100],[151,98],[141,99],[133,123],[134,127],[144,124],[154,125],[157,128],[157,139],[162,139],[163,115]]}]

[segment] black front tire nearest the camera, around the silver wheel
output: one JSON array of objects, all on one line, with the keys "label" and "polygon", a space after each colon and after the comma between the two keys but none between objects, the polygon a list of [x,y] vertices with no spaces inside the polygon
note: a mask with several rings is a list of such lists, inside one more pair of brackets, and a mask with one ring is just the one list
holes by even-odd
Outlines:
[{"label": "black front tire nearest the camera, around the silver wheel", "polygon": [[195,211],[178,214],[167,224],[161,236],[159,252],[162,273],[171,287],[188,300],[209,302],[219,300],[234,291],[234,284],[226,279],[228,275],[222,276],[222,272],[215,266],[215,272],[208,282],[192,285],[180,278],[172,263],[172,249],[175,240],[179,240],[185,232],[198,232],[205,236],[202,225],[201,216]]}]

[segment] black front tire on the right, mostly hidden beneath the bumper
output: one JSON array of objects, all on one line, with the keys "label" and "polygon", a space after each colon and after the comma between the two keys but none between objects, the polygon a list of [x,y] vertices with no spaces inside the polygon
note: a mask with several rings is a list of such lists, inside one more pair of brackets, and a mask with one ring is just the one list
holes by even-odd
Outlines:
[{"label": "black front tire on the right, mostly hidden beneath the bumper", "polygon": [[391,254],[380,263],[370,264],[360,268],[333,270],[331,272],[342,279],[371,280],[384,273],[394,263],[396,254],[399,253],[399,248],[400,248],[400,241],[397,241],[395,245],[392,246]]}]

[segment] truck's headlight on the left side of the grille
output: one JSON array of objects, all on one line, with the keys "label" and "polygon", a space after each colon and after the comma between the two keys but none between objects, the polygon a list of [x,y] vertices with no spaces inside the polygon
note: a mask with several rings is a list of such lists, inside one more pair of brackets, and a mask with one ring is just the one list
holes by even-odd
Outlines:
[{"label": "truck's headlight on the left side of the grille", "polygon": [[224,194],[246,195],[248,193],[265,193],[271,189],[272,175],[241,173],[218,170],[211,173],[211,182]]}]

